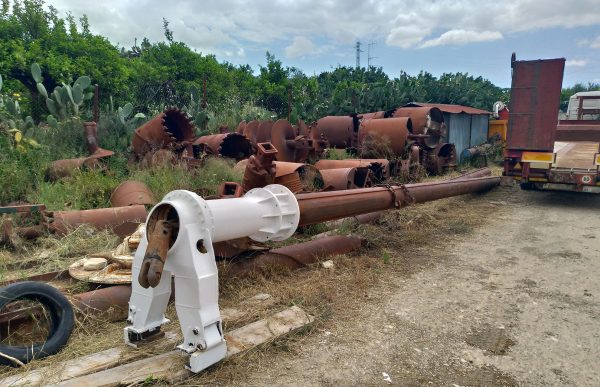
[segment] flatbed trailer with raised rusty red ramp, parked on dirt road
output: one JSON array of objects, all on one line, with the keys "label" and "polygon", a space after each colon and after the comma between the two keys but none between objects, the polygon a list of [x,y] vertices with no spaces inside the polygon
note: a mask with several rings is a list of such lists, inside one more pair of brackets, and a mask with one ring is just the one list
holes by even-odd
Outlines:
[{"label": "flatbed trailer with raised rusty red ramp, parked on dirt road", "polygon": [[504,175],[523,189],[600,193],[600,121],[558,122],[564,64],[513,54]]}]

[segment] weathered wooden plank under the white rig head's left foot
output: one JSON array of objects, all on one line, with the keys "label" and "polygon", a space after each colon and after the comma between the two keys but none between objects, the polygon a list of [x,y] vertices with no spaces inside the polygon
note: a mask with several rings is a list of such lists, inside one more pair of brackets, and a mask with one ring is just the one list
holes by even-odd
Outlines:
[{"label": "weathered wooden plank under the white rig head's left foot", "polygon": [[[257,294],[240,303],[244,310],[235,308],[221,309],[221,319],[224,322],[239,320],[249,314],[249,310],[272,306],[277,299],[269,294]],[[128,361],[134,361],[148,353],[172,349],[177,344],[177,333],[175,331],[165,332],[165,337],[158,341],[144,344],[140,350],[122,345],[110,348],[98,353],[83,356],[63,362],[61,365],[41,367],[32,371],[9,376],[0,380],[0,386],[35,386],[48,383],[59,383],[64,380],[103,371]]]}]

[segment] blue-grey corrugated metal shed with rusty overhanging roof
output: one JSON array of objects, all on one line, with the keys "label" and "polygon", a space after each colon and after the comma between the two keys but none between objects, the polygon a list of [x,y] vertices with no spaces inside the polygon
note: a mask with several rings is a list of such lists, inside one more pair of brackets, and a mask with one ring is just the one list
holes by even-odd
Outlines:
[{"label": "blue-grey corrugated metal shed with rusty overhanging roof", "polygon": [[443,103],[411,102],[404,106],[426,106],[440,109],[444,113],[444,121],[448,132],[444,140],[454,144],[456,154],[459,157],[463,150],[481,145],[487,141],[491,112],[469,106]]}]

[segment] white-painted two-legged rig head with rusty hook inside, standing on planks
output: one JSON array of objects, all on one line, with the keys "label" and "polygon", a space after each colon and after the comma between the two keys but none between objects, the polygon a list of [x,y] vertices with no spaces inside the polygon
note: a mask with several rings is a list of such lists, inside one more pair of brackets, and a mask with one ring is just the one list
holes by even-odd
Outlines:
[{"label": "white-painted two-legged rig head with rusty hook inside, standing on planks", "polygon": [[146,234],[135,254],[125,342],[135,345],[168,322],[164,313],[173,277],[184,337],[178,348],[190,354],[188,368],[200,372],[223,359],[227,347],[212,244],[242,237],[284,240],[296,231],[299,220],[296,197],[277,184],[232,199],[204,200],[184,190],[168,193],[148,215]]}]

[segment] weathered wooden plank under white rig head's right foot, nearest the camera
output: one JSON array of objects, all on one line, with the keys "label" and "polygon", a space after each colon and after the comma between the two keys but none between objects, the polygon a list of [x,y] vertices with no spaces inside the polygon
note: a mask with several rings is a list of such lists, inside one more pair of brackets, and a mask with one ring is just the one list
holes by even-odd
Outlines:
[{"label": "weathered wooden plank under white rig head's right foot, nearest the camera", "polygon": [[[297,306],[243,326],[225,335],[227,357],[246,351],[257,345],[272,341],[313,321],[312,316]],[[166,380],[169,383],[192,375],[184,368],[186,356],[175,350],[162,355],[138,360],[95,374],[71,379],[58,386],[109,387],[141,383],[149,378]]]}]

